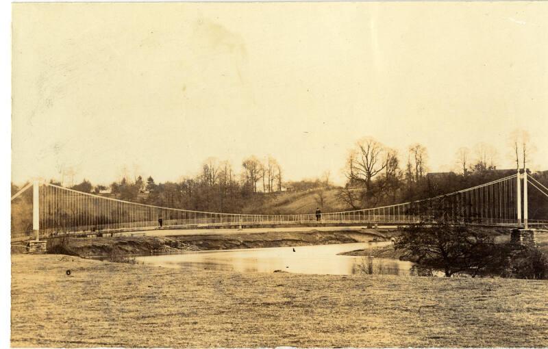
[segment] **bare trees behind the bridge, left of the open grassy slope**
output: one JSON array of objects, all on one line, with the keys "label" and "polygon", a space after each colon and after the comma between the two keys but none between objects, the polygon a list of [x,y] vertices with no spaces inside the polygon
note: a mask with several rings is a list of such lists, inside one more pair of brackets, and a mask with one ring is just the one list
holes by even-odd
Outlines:
[{"label": "bare trees behind the bridge, left of the open grassy slope", "polygon": [[[94,186],[84,179],[71,188],[162,207],[239,213],[246,206],[261,201],[262,194],[281,192],[283,175],[282,166],[274,157],[259,159],[251,155],[242,161],[239,172],[229,161],[210,157],[203,161],[198,174],[182,177],[179,181],[157,183],[151,176],[147,179],[138,176],[133,180],[123,177],[107,188]],[[108,193],[104,193],[105,190]]]}]

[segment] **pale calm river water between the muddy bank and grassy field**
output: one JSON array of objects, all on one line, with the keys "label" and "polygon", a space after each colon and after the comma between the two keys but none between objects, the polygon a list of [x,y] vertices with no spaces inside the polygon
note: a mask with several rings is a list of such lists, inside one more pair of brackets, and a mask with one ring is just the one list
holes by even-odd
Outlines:
[{"label": "pale calm river water between the muddy bank and grassy field", "polygon": [[[203,251],[179,255],[136,257],[138,261],[153,266],[170,268],[206,268],[236,272],[285,272],[303,274],[358,274],[363,257],[340,256],[338,253],[373,246],[385,246],[390,242],[360,242],[319,246],[249,248],[245,250]],[[293,251],[295,249],[295,252]],[[382,274],[410,274],[412,263],[396,259],[373,259],[382,268]]]}]

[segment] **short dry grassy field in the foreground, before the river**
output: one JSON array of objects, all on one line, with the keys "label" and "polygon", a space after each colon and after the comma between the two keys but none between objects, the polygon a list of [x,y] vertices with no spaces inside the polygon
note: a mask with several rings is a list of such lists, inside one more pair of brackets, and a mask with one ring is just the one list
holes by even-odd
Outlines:
[{"label": "short dry grassy field in the foreground, before the river", "polygon": [[[65,271],[71,269],[71,276]],[[548,346],[548,282],[12,256],[12,346]]]}]

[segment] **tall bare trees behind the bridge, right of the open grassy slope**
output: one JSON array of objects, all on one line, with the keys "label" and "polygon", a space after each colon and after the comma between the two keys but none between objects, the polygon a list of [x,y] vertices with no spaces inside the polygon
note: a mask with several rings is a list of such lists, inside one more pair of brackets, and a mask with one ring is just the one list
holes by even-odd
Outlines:
[{"label": "tall bare trees behind the bridge, right of the open grassy slope", "polygon": [[[516,135],[510,146],[516,168],[498,169],[497,151],[493,146],[479,143],[473,150],[459,148],[454,157],[453,170],[428,171],[428,151],[422,144],[411,144],[405,154],[375,140],[363,138],[356,142],[345,162],[346,183],[340,188],[338,199],[349,209],[365,209],[456,192],[515,174],[517,168],[527,167],[534,148],[526,133]],[[532,174],[541,183],[548,183],[547,172]],[[530,190],[531,218],[548,216],[546,198]]]}]

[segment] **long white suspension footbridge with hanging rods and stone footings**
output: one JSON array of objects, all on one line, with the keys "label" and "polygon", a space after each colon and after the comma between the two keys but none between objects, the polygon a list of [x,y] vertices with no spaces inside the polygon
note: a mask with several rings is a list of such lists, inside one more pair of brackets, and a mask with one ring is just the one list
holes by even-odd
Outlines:
[{"label": "long white suspension footbridge with hanging rods and stone footings", "polygon": [[[159,207],[78,192],[38,181],[12,196],[12,205],[16,198],[32,187],[34,240],[29,244],[36,251],[45,250],[45,242],[40,237],[112,236],[153,229],[290,224],[405,225],[433,220],[440,211],[449,215],[454,224],[514,228],[516,233],[513,239],[517,242],[524,241],[524,238],[527,240],[526,236],[530,234],[527,231],[532,228],[548,229],[548,220],[528,218],[528,185],[548,197],[548,188],[527,174],[527,171],[521,170],[508,177],[433,198],[369,209],[329,212],[321,214],[320,220],[317,220],[315,214],[223,214]],[[12,242],[31,239],[29,231],[12,232]]]}]

